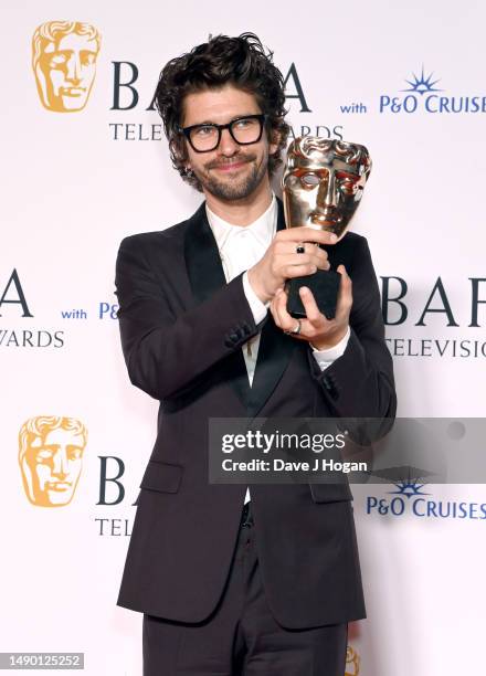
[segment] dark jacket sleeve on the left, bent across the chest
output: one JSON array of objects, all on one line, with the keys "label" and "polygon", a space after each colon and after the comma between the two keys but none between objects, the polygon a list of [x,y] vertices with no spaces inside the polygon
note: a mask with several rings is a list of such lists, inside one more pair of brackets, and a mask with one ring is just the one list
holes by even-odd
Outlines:
[{"label": "dark jacket sleeve on the left, bent across the chest", "polygon": [[191,388],[207,369],[241,349],[258,328],[242,275],[176,315],[140,237],[126,237],[116,262],[122,348],[130,381],[155,399]]}]

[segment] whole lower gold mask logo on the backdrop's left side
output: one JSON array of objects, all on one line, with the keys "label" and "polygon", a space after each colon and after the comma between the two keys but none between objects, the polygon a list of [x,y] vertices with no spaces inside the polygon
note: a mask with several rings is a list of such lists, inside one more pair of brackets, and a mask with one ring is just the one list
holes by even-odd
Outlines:
[{"label": "whole lower gold mask logo on the backdrop's left side", "polygon": [[19,465],[27,497],[38,507],[64,507],[76,490],[87,430],[75,418],[40,415],[19,432]]}]

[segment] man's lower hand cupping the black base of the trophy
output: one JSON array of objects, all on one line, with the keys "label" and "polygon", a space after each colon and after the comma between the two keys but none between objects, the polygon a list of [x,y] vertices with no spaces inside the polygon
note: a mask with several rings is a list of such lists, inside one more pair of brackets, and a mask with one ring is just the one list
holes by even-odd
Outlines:
[{"label": "man's lower hand cupping the black base of the trophy", "polygon": [[[335,347],[342,340],[348,330],[349,313],[352,305],[351,279],[344,265],[339,265],[338,272],[341,273],[341,283],[334,319],[327,319],[320,313],[310,289],[305,286],[300,288],[300,298],[307,318],[300,319],[300,332],[292,334],[292,336],[300,340],[307,340],[317,350]],[[284,331],[292,331],[298,325],[298,320],[287,313],[286,292],[279,291],[274,296],[270,309],[275,324]]]}]

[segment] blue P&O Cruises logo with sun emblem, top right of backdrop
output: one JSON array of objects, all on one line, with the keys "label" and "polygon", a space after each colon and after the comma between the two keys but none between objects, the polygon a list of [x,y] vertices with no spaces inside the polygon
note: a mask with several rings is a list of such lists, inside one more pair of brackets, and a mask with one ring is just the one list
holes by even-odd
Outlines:
[{"label": "blue P&O Cruises logo with sun emblem, top right of backdrop", "polygon": [[466,113],[486,113],[486,95],[450,95],[440,86],[441,78],[434,73],[426,73],[424,66],[419,75],[412,73],[405,78],[406,88],[400,89],[400,95],[382,94],[380,96],[380,113],[432,113],[454,115]]}]

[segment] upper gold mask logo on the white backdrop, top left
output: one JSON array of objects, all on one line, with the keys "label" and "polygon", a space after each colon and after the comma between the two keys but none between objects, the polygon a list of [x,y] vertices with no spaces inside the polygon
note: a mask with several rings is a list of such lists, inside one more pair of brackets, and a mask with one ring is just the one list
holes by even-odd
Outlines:
[{"label": "upper gold mask logo on the white backdrop, top left", "polygon": [[32,68],[47,110],[75,113],[89,97],[102,36],[89,23],[46,21],[32,38]]}]

